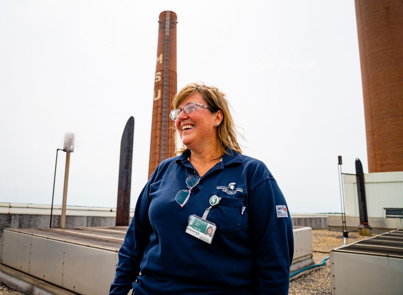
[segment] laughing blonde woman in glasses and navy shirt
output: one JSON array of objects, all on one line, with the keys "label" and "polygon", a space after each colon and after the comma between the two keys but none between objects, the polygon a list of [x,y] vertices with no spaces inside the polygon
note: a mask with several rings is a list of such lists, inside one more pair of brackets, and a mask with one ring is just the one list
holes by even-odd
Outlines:
[{"label": "laughing blonde woman in glasses and navy shirt", "polygon": [[189,84],[172,105],[180,155],[143,188],[110,294],[288,294],[288,207],[266,165],[241,155],[224,93]]}]

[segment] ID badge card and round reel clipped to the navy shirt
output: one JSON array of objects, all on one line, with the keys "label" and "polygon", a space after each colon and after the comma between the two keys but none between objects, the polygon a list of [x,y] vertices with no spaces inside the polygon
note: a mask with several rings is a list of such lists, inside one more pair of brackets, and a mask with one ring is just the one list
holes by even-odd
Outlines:
[{"label": "ID badge card and round reel clipped to the navy shirt", "polygon": [[216,206],[220,202],[218,196],[212,196],[210,198],[210,207],[208,207],[204,213],[203,217],[198,217],[196,215],[190,215],[188,219],[188,225],[186,227],[186,233],[193,235],[202,241],[211,244],[214,233],[216,232],[216,225],[208,220],[206,220],[210,209]]}]

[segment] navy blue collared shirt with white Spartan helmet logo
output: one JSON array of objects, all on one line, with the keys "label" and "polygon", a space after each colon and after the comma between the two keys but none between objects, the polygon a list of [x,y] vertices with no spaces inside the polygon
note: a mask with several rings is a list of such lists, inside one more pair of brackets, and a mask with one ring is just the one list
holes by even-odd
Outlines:
[{"label": "navy blue collared shirt with white Spartan helmet logo", "polygon": [[[188,175],[198,175],[189,153],[158,165],[138,198],[110,294],[132,287],[136,295],[288,294],[293,229],[285,198],[264,163],[229,153],[183,208],[175,196],[188,189]],[[217,226],[208,244],[185,229],[212,195],[221,200],[207,217]]]}]

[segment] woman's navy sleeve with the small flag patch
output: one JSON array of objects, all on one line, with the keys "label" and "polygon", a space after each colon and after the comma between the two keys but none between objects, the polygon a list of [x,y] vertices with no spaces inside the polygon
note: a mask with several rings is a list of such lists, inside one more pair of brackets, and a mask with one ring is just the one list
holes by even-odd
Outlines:
[{"label": "woman's navy sleeve with the small flag patch", "polygon": [[[282,214],[276,206],[286,207]],[[249,228],[256,270],[255,293],[286,295],[294,243],[291,217],[277,182],[264,179],[249,195]]]}]

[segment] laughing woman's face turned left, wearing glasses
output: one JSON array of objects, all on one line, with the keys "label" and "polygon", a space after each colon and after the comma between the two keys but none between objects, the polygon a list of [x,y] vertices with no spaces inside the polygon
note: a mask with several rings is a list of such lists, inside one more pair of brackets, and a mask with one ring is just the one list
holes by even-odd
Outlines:
[{"label": "laughing woman's face turned left, wearing glasses", "polygon": [[[178,108],[183,109],[185,105],[191,102],[207,105],[203,96],[199,92],[195,92],[185,98],[179,104]],[[214,124],[220,121],[217,120],[218,112],[211,112],[206,108],[197,108],[196,111],[192,113],[181,111],[179,117],[175,120],[175,126],[183,144],[185,144],[188,149],[191,151],[202,151],[206,149],[207,146],[217,142],[217,128],[215,128]]]}]

